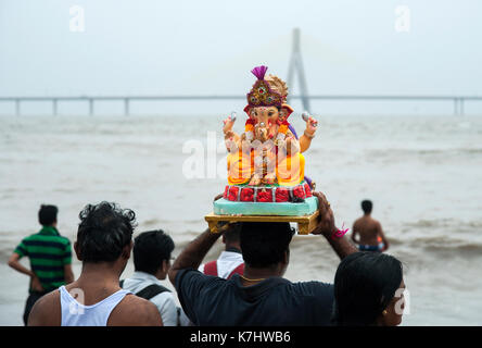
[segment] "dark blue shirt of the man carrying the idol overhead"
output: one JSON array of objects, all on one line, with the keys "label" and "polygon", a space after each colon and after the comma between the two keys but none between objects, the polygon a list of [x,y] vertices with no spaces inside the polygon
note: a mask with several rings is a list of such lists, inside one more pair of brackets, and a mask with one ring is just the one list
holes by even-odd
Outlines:
[{"label": "dark blue shirt of the man carrying the idol overhead", "polygon": [[331,284],[269,277],[245,287],[238,274],[224,279],[189,269],[177,273],[176,289],[194,325],[331,325]]}]

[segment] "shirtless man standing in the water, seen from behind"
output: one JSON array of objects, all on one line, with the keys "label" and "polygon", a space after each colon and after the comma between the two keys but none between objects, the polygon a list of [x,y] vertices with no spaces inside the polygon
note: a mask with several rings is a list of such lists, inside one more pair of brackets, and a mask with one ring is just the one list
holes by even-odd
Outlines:
[{"label": "shirtless man standing in the water, seen from behind", "polygon": [[[352,240],[358,245],[360,251],[382,252],[389,249],[389,241],[383,234],[381,224],[371,217],[373,203],[369,200],[362,201],[365,215],[353,224]],[[356,235],[359,234],[359,239]]]}]

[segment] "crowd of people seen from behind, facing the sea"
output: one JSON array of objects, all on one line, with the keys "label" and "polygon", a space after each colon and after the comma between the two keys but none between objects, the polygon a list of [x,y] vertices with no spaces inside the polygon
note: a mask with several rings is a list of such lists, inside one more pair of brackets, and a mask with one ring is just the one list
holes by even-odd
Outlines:
[{"label": "crowd of people seen from behind, facing the sea", "polygon": [[[83,266],[75,279],[71,241],[56,228],[58,209],[42,206],[41,229],[24,238],[9,260],[30,277],[25,325],[398,325],[403,266],[381,252],[389,243],[370,216],[372,203],[362,202],[365,214],[348,238],[335,226],[325,195],[314,195],[319,215],[312,234],[341,259],[334,284],[283,277],[295,234],[289,223],[229,223],[219,225],[219,233],[206,229],[173,262],[170,236],[148,231],[132,240],[135,212],[105,201],[79,213],[73,249]],[[218,238],[225,250],[202,264]],[[135,272],[122,278],[131,254]],[[30,269],[22,265],[22,257],[29,258]],[[163,285],[166,277],[175,293]]]}]

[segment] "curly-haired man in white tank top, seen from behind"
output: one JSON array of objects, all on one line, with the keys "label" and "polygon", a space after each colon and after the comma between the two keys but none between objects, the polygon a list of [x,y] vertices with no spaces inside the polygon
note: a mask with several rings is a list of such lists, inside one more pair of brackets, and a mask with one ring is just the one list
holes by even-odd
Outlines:
[{"label": "curly-haired man in white tank top, seen from behind", "polygon": [[74,250],[83,262],[80,276],[38,300],[28,325],[162,325],[152,302],[119,287],[132,249],[134,211],[101,202],[88,204],[79,217]]}]

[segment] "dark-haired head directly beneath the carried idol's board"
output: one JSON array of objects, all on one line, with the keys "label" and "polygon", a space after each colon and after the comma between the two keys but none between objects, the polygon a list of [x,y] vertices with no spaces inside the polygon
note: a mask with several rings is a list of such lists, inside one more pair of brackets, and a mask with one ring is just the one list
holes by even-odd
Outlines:
[{"label": "dark-haired head directly beneath the carried idol's board", "polygon": [[289,223],[243,222],[240,244],[244,262],[251,268],[269,268],[281,262],[294,229]]}]

